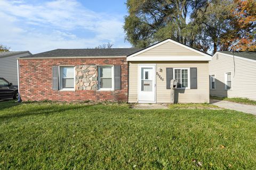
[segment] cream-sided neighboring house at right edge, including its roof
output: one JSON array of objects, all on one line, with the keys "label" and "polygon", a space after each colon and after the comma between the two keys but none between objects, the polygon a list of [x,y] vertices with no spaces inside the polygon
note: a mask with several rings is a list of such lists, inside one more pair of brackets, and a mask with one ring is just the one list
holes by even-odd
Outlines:
[{"label": "cream-sided neighboring house at right edge, including its roof", "polygon": [[256,51],[217,52],[209,73],[211,96],[256,100]]}]

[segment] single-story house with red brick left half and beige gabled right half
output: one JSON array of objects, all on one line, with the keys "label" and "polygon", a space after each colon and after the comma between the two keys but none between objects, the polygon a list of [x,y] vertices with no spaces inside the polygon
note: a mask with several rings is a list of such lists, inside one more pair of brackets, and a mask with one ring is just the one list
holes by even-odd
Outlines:
[{"label": "single-story house with red brick left half and beige gabled right half", "polygon": [[23,100],[209,102],[211,56],[166,39],[144,49],[55,49],[19,58]]}]

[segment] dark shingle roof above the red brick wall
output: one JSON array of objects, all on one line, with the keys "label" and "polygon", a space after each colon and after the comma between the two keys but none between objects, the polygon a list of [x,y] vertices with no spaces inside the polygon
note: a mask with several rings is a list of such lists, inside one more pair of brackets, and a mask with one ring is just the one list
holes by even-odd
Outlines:
[{"label": "dark shingle roof above the red brick wall", "polygon": [[92,49],[54,49],[20,58],[40,57],[93,57],[93,56],[127,56],[140,50],[139,48],[92,48]]}]

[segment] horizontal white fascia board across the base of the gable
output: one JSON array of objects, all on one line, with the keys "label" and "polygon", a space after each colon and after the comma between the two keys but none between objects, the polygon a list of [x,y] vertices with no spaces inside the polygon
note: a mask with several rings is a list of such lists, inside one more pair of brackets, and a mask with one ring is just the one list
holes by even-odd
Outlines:
[{"label": "horizontal white fascia board across the base of the gable", "polygon": [[134,56],[127,61],[211,61],[211,56]]}]

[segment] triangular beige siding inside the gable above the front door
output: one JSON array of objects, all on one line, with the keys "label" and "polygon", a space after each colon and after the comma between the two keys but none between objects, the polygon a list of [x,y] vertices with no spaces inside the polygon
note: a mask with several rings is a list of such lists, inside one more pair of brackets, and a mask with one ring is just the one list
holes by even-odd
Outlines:
[{"label": "triangular beige siding inside the gable above the front door", "polygon": [[141,53],[137,56],[203,56],[185,47],[177,44],[167,42],[158,47],[149,49],[147,52]]}]

